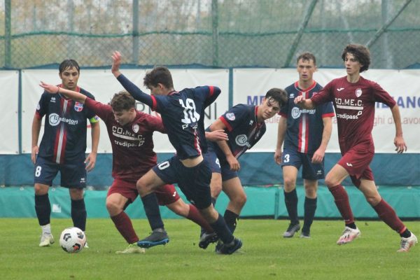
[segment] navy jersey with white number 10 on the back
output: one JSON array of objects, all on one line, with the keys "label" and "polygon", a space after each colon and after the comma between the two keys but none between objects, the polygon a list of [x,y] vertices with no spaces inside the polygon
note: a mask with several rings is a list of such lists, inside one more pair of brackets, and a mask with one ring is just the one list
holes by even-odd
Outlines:
[{"label": "navy jersey with white number 10 on the back", "polygon": [[134,99],[160,113],[169,141],[180,160],[195,158],[207,151],[202,118],[204,109],[221,93],[218,87],[202,86],[174,91],[168,95],[148,95],[124,75],[118,76],[118,80]]}]

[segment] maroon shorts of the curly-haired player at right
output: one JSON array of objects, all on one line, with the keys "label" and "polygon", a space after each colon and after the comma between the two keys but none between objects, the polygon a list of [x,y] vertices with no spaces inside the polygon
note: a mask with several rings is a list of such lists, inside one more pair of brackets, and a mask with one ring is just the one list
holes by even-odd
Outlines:
[{"label": "maroon shorts of the curly-haired player at right", "polygon": [[360,179],[374,181],[372,169],[369,165],[372,162],[374,152],[366,145],[356,145],[343,153],[338,164],[349,172],[351,181],[356,187],[360,186]]}]

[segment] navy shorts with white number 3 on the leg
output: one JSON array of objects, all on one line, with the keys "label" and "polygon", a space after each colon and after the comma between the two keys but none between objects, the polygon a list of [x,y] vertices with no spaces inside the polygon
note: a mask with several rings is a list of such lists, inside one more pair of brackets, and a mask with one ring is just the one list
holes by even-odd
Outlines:
[{"label": "navy shorts with white number 3 on the leg", "polygon": [[312,155],[294,150],[284,150],[281,154],[281,167],[294,166],[297,170],[302,166],[302,178],[307,180],[324,179],[324,162],[312,163]]}]

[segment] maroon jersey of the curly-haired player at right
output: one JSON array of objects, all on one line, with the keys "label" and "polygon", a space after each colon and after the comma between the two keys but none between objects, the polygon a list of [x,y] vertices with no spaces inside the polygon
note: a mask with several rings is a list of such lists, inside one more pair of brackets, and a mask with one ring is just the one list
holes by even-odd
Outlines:
[{"label": "maroon jersey of the curly-haired player at right", "polygon": [[342,153],[358,144],[374,151],[372,129],[374,104],[381,102],[392,108],[395,101],[380,85],[362,76],[357,83],[347,77],[336,78],[311,97],[315,105],[332,102],[337,116],[338,140]]}]

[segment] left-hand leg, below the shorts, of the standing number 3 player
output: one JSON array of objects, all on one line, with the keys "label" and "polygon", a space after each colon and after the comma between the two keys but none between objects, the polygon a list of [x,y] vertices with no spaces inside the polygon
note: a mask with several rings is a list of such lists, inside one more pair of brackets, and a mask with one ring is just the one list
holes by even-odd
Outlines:
[{"label": "left-hand leg, below the shorts, of the standing number 3 player", "polygon": [[283,165],[284,180],[284,203],[286,204],[287,213],[290,219],[288,229],[283,233],[283,237],[290,238],[295,232],[300,230],[299,218],[297,216],[297,193],[296,178],[297,167],[293,165]]}]

